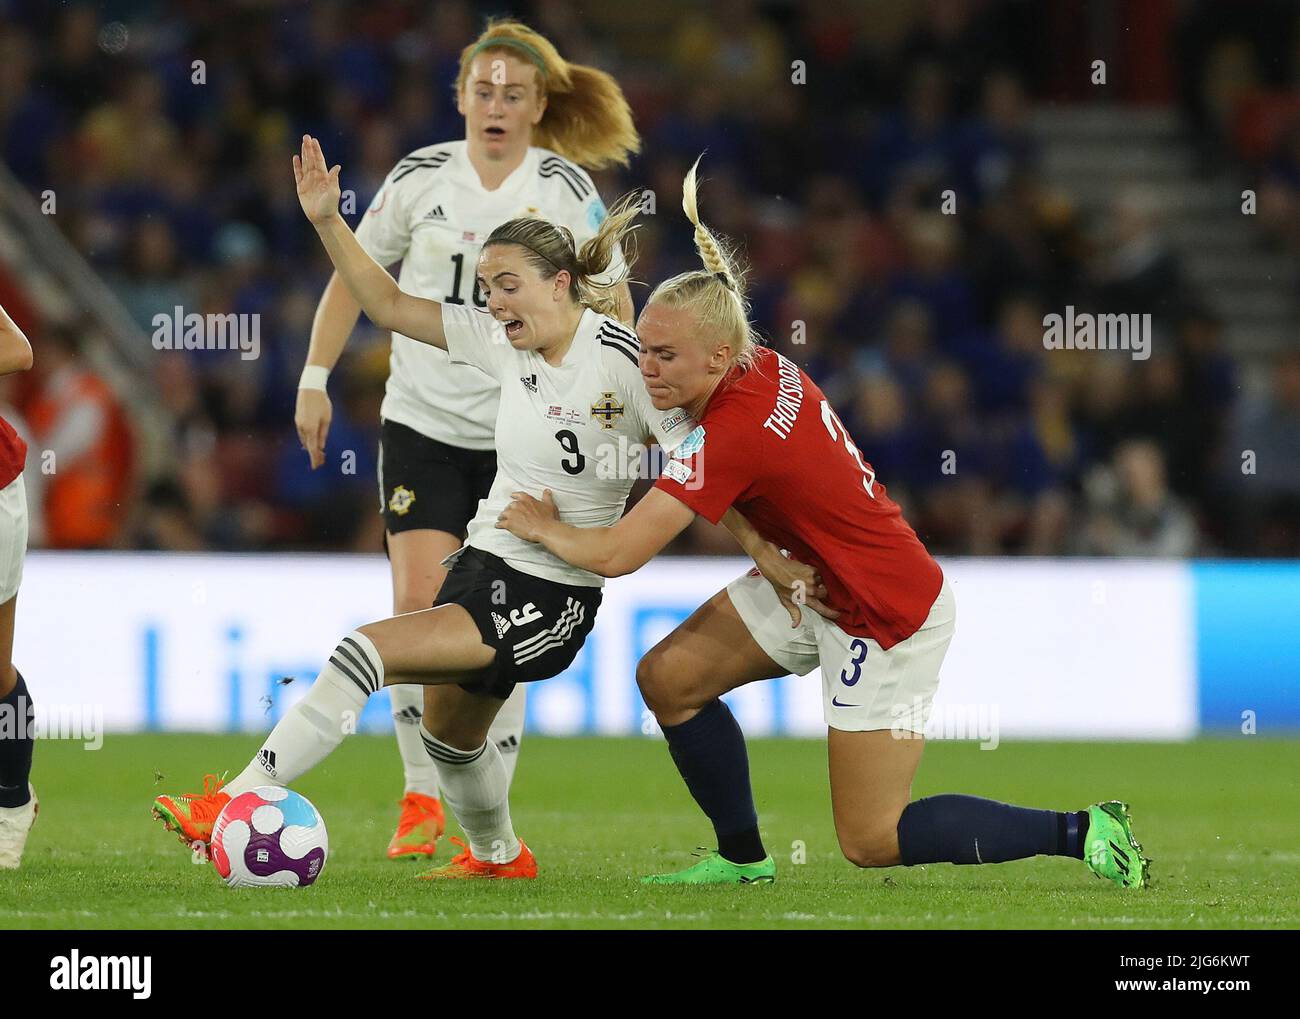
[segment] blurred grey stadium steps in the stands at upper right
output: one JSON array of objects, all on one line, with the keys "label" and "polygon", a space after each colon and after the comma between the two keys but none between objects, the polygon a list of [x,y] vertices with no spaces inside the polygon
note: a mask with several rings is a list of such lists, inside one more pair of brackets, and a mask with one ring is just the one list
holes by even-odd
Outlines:
[{"label": "blurred grey stadium steps in the stands at upper right", "polygon": [[1070,194],[1093,222],[1119,187],[1153,196],[1187,279],[1223,317],[1232,354],[1261,357],[1296,346],[1300,265],[1261,247],[1257,225],[1242,213],[1247,185],[1196,175],[1175,109],[1049,105],[1034,112],[1030,127],[1044,182]]}]

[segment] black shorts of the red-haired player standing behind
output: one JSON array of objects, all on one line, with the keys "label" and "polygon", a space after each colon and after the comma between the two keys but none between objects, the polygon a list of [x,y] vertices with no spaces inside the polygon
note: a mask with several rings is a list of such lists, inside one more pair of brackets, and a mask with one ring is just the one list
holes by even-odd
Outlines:
[{"label": "black shorts of the red-haired player standing behind", "polygon": [[495,450],[462,450],[396,421],[382,422],[380,512],[390,534],[445,530],[464,538],[495,476]]}]

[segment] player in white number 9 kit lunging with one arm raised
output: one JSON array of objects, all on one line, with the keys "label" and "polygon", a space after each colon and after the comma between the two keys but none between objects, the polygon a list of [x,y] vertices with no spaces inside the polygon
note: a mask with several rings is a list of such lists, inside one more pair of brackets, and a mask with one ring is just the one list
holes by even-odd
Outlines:
[{"label": "player in white number 9 kit lunging with one arm raised", "polygon": [[[209,776],[203,795],[159,797],[155,816],[186,842],[209,841],[231,795],[292,782],[343,741],[370,694],[420,682],[421,737],[469,838],[464,853],[426,876],[534,877],[533,855],[511,825],[506,766],[488,733],[515,684],[569,665],[594,625],[603,580],[495,522],[511,493],[526,489],[554,493],[560,515],[584,528],[612,524],[642,443],[671,451],[694,426],[685,412],[653,406],[636,334],[610,317],[614,302],[595,282],[638,209],[619,203],[580,250],[564,227],[543,220],[502,224],[478,256],[488,311],[477,311],[403,292],[365,253],[338,214],[339,168],[325,169],[313,139],[303,139],[294,170],[303,211],[365,313],[500,383],[497,478],[434,608],[347,634],[234,781],[213,788]],[[767,555],[779,558],[775,548]]]}]

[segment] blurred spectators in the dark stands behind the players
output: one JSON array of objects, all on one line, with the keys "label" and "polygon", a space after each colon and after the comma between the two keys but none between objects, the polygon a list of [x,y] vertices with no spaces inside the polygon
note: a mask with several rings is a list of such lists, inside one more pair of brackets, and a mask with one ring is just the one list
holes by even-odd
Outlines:
[{"label": "blurred spectators in the dark stands behind the players", "polygon": [[[703,214],[753,263],[759,328],[823,386],[935,552],[1300,554],[1300,356],[1243,396],[1160,222],[1122,199],[1087,222],[1043,181],[1028,113],[1061,97],[1045,44],[1060,26],[1039,5],[667,4],[654,32],[632,6],[0,3],[0,155],[34,195],[53,188],[57,226],[146,333],[176,305],[261,316],[259,359],[157,352],[138,380],[170,421],[161,476],[133,472],[121,394],[78,357],[81,330],[25,324],[36,369],[5,395],[32,460],[58,451],[44,542],[378,547],[386,337],[363,328],[332,377],[330,464],[355,451],[355,473],[312,473],[294,434],[329,265],[289,157],[318,135],[363,211],[404,153],[463,136],[458,56],[486,14],[512,13],[628,94],[644,151],[597,183],[607,201],[655,194],[640,279],[690,266],[680,181],[707,152]],[[909,9],[887,42],[881,6]],[[1266,168],[1278,213],[1261,243],[1300,248],[1297,94],[1290,122],[1270,107],[1290,127],[1240,146],[1216,116],[1228,57],[1196,32],[1202,5],[1183,6],[1188,125],[1208,160]],[[1294,47],[1294,12],[1284,27]],[[21,317],[20,294],[0,300]],[[1066,304],[1150,312],[1154,355],[1045,351],[1043,316]],[[728,547],[701,528],[675,550]]]}]

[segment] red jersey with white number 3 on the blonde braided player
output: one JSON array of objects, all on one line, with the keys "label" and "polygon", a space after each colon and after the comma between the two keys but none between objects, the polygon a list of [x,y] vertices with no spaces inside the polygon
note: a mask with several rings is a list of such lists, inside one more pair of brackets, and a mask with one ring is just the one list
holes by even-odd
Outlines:
[{"label": "red jersey with white number 3 on the blonde braided player", "polygon": [[836,625],[881,647],[926,621],[944,574],[885,494],[822,390],[759,348],[719,383],[664,465],[662,489],[716,524],[734,504],[767,541],[822,573]]}]

